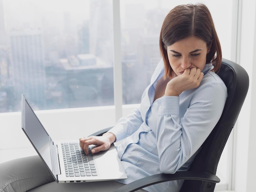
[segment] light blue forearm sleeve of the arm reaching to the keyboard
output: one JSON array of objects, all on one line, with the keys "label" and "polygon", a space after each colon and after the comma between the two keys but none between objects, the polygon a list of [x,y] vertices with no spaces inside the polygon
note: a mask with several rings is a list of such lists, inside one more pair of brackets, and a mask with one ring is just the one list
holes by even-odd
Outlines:
[{"label": "light blue forearm sleeve of the arm reaching to the keyboard", "polygon": [[108,132],[115,134],[116,141],[120,141],[134,133],[142,122],[139,109],[135,109],[130,115],[120,118],[117,124]]}]

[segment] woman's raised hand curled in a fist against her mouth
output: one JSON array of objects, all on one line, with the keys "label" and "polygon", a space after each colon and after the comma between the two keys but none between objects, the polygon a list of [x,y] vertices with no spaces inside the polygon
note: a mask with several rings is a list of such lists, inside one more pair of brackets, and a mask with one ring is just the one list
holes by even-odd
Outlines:
[{"label": "woman's raised hand curled in a fist against her mouth", "polygon": [[179,96],[182,92],[200,85],[204,74],[195,67],[185,69],[183,74],[172,78],[166,85],[165,96]]}]

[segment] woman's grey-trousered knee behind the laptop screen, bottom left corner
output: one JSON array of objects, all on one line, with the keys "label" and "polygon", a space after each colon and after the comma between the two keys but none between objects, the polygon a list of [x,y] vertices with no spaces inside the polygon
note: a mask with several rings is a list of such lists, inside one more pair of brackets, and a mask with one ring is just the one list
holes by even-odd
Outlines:
[{"label": "woman's grey-trousered knee behind the laptop screen, bottom left corner", "polygon": [[39,156],[0,164],[0,192],[25,192],[52,181],[52,174]]}]

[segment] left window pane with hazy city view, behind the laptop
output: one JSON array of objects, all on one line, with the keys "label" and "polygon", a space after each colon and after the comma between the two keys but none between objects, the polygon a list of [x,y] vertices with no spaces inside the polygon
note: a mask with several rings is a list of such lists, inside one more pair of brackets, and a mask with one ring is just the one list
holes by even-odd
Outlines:
[{"label": "left window pane with hazy city view, behind the laptop", "polygon": [[[15,6],[13,6],[15,4]],[[113,105],[112,1],[0,0],[0,112]]]}]

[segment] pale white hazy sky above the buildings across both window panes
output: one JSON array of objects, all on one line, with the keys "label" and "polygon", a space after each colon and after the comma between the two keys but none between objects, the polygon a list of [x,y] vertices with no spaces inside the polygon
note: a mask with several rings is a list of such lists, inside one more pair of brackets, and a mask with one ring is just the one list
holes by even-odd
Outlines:
[{"label": "pale white hazy sky above the buildings across both window panes", "polygon": [[[81,25],[83,20],[90,17],[90,1],[97,0],[0,0],[3,2],[5,25],[10,27],[40,27],[42,20],[49,27],[63,26],[63,13],[70,13],[70,20],[74,26]],[[100,2],[101,0],[99,0]],[[105,0],[104,0],[105,1]],[[112,0],[109,0],[111,3]],[[164,7],[171,10],[178,4],[202,2],[207,5],[218,31],[220,40],[226,41],[227,34],[231,34],[233,0],[120,0],[121,18],[124,18],[126,4],[143,3],[145,9]],[[220,13],[222,16],[220,16]],[[225,17],[223,17],[225,13]],[[223,27],[225,30],[223,31]],[[225,47],[223,52],[225,52]],[[229,48],[227,49],[229,51]]]}]

